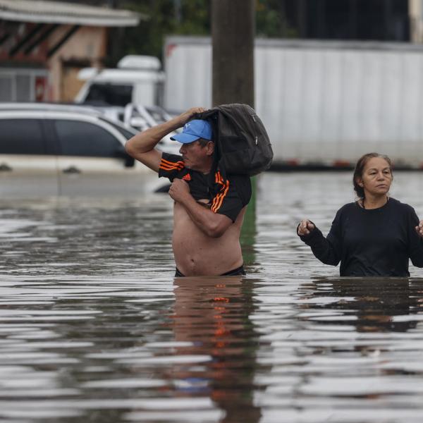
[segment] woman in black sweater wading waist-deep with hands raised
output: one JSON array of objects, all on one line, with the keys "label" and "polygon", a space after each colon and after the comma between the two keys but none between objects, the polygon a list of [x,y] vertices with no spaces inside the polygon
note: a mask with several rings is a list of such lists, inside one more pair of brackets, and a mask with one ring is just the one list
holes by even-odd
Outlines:
[{"label": "woman in black sweater wading waist-deep with hands raised", "polygon": [[423,267],[423,221],[388,197],[392,179],[388,157],[364,154],[353,176],[358,200],[338,210],[326,238],[308,219],[297,234],[322,263],[341,262],[341,276],[410,276],[408,259]]}]

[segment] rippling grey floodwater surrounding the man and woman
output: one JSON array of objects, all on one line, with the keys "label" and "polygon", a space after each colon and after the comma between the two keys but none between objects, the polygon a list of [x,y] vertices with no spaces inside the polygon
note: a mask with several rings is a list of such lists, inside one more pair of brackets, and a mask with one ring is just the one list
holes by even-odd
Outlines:
[{"label": "rippling grey floodwater surrounding the man and woman", "polygon": [[259,178],[245,278],[173,278],[167,195],[0,202],[0,421],[420,423],[423,269],[339,278],[295,235],[350,176]]}]

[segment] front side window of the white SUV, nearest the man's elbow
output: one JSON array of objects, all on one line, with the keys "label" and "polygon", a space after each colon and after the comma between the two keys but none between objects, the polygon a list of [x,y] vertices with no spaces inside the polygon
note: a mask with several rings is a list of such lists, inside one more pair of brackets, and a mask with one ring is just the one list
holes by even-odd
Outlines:
[{"label": "front side window of the white SUV, nearest the man's elbow", "polygon": [[122,157],[121,142],[94,123],[63,119],[54,121],[54,127],[64,156]]}]

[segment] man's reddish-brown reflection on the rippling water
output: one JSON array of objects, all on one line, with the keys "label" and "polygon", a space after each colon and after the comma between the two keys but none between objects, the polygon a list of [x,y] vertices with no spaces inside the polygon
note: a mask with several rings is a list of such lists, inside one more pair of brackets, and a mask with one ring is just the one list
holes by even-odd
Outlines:
[{"label": "man's reddish-brown reflection on the rippling water", "polygon": [[186,381],[191,394],[206,394],[224,410],[219,421],[258,422],[251,389],[258,347],[250,321],[254,283],[232,276],[176,278],[174,285],[173,333],[176,341],[190,344],[176,354],[207,360],[198,369],[173,368],[173,376]]}]

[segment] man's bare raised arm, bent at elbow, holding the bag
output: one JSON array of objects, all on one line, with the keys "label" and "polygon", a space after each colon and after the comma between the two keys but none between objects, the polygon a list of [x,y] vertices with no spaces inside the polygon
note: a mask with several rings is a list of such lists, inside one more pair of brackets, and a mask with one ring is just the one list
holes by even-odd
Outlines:
[{"label": "man's bare raised arm, bent at elbow, holding the bag", "polygon": [[170,121],[142,131],[126,142],[126,152],[134,159],[145,164],[145,166],[148,166],[153,171],[158,172],[161,161],[161,152],[154,147],[156,147],[161,138],[165,137],[174,130],[181,128],[190,120],[190,118],[192,118],[193,115],[196,113],[202,113],[203,111],[204,109],[202,107],[192,107],[192,109],[185,111],[183,114],[176,116],[176,118],[173,118]]}]

